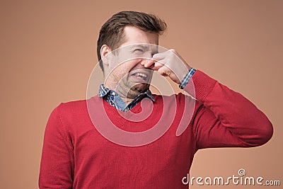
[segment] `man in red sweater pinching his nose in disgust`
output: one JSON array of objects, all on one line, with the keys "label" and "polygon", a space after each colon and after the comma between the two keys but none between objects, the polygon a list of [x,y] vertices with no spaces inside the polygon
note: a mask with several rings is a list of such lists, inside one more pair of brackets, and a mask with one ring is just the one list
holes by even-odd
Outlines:
[{"label": "man in red sweater pinching his nose in disgust", "polygon": [[[198,149],[256,147],[272,137],[270,121],[253,103],[190,67],[175,50],[159,52],[155,47],[164,30],[160,18],[134,11],[116,13],[102,26],[98,59],[104,84],[98,96],[53,110],[45,130],[40,188],[187,188],[182,178]],[[128,59],[127,52],[146,55]],[[111,58],[123,55],[122,64]],[[196,101],[183,94],[153,95],[152,71],[168,76]],[[192,115],[187,115],[190,108]],[[149,114],[140,119],[142,113]],[[109,132],[111,125],[121,136]],[[155,125],[170,127],[148,141],[142,134]]]}]

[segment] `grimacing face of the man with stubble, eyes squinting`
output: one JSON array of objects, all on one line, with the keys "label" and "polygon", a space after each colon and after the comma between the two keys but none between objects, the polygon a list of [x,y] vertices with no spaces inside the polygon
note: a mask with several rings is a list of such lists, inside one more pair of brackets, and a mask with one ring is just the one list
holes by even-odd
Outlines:
[{"label": "grimacing face of the man with stubble, eyes squinting", "polygon": [[105,69],[105,86],[124,98],[134,98],[149,88],[153,71],[144,68],[141,62],[149,61],[157,53],[158,34],[133,26],[125,27],[124,34],[125,42],[115,53],[117,58],[115,61],[110,59]]}]

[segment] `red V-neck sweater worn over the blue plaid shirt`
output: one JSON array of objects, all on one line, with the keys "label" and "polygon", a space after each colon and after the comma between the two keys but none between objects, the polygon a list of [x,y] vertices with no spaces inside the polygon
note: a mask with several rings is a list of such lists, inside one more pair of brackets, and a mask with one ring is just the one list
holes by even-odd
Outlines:
[{"label": "red V-neck sweater worn over the blue plaid shirt", "polygon": [[[86,101],[60,104],[45,130],[40,188],[187,188],[182,178],[190,171],[197,149],[256,147],[272,137],[270,121],[240,93],[202,71],[197,71],[192,81],[197,99],[192,120],[191,115],[182,118],[184,104],[194,103],[183,94],[154,96],[155,103],[143,101],[123,113],[137,115],[142,108],[150,107],[152,113],[139,122],[122,118],[121,112],[103,101],[112,123],[129,132],[149,130],[162,115],[175,115],[162,137],[139,147],[125,147],[105,139],[93,126]],[[190,92],[190,84],[185,91]],[[101,98],[95,96],[91,101],[96,105]],[[176,102],[177,111],[163,109],[163,101]],[[98,115],[103,112],[100,108],[92,110]],[[180,122],[186,122],[187,127],[176,136]]]}]

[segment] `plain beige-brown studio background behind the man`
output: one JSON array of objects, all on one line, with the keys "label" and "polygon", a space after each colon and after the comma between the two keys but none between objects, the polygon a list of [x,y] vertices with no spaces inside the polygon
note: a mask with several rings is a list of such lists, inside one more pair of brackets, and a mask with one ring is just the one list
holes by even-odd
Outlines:
[{"label": "plain beige-brown studio background behind the man", "polygon": [[61,0],[0,2],[0,188],[37,188],[47,118],[60,102],[86,98],[98,31],[122,10],[163,18],[169,29],[160,45],[243,93],[274,125],[262,147],[198,151],[191,176],[245,168],[247,176],[283,185],[283,1]]}]

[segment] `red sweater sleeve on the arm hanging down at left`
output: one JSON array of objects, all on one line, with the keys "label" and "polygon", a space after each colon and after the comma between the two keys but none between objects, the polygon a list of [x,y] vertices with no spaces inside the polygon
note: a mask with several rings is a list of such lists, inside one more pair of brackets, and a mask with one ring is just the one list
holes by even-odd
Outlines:
[{"label": "red sweater sleeve on the arm hanging down at left", "polygon": [[40,164],[40,188],[72,188],[74,155],[61,121],[59,105],[47,122]]}]

